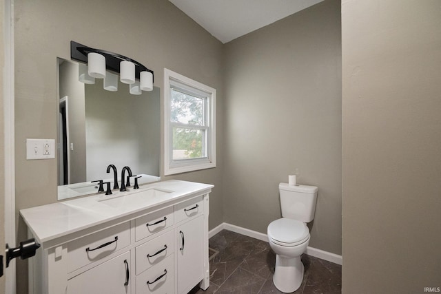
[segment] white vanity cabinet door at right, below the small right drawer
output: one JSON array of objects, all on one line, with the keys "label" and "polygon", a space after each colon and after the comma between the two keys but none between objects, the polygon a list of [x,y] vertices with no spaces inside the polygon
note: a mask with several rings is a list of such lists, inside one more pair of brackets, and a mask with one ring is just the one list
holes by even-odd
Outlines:
[{"label": "white vanity cabinet door at right, below the small right drawer", "polygon": [[188,293],[203,279],[203,216],[176,228],[178,293]]}]

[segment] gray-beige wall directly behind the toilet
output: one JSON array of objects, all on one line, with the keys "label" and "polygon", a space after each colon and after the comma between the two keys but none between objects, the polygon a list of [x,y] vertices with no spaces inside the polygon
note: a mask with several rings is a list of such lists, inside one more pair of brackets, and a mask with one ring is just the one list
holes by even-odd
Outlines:
[{"label": "gray-beige wall directly behind the toilet", "polygon": [[309,246],[341,254],[340,1],[225,45],[225,221],[266,233],[278,183],[318,186]]}]

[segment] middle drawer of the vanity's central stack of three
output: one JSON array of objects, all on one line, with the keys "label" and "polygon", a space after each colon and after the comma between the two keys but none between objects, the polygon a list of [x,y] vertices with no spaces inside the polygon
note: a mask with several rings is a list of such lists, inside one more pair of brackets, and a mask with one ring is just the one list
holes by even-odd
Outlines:
[{"label": "middle drawer of the vanity's central stack of three", "polygon": [[174,251],[173,231],[136,247],[136,275],[165,260]]}]

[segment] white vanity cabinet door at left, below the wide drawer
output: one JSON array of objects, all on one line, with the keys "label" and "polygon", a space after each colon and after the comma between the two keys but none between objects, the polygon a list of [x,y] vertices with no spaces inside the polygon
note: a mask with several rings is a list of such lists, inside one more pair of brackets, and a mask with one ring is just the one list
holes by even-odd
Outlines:
[{"label": "white vanity cabinet door at left, below the wide drawer", "polygon": [[130,251],[68,280],[68,294],[130,293]]}]

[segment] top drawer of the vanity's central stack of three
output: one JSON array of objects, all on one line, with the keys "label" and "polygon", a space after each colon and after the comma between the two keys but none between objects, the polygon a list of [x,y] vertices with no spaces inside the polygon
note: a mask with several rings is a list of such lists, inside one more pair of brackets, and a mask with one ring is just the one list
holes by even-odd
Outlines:
[{"label": "top drawer of the vanity's central stack of three", "polygon": [[147,238],[173,225],[173,207],[141,216],[135,220],[135,240]]}]

